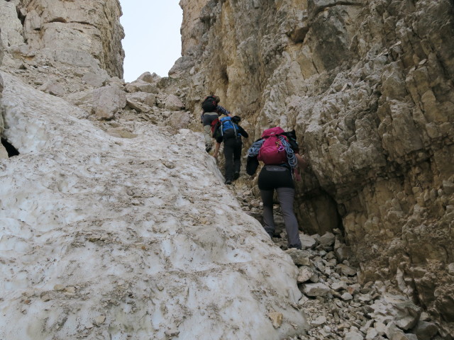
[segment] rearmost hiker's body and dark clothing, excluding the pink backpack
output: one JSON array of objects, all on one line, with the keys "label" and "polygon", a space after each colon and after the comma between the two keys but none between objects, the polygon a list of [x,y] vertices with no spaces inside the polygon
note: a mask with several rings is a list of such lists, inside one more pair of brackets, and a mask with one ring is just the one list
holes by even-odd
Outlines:
[{"label": "rearmost hiker's body and dark clothing, excluding the pink backpack", "polygon": [[[282,130],[282,132],[284,131]],[[292,170],[296,169],[297,166],[301,169],[305,169],[307,164],[304,158],[298,153],[299,150],[296,143],[296,136],[294,142],[291,141],[291,138],[289,138],[289,140],[290,142],[287,142],[287,144],[283,143],[283,147],[287,153],[287,160],[281,164],[265,164],[258,176],[258,188],[260,189],[260,196],[263,203],[263,224],[265,231],[270,237],[273,237],[275,234],[273,195],[276,190],[279,205],[284,217],[285,229],[287,231],[288,247],[301,249],[298,221],[293,211],[295,189]],[[257,171],[259,165],[258,153],[262,144],[263,140],[260,138],[260,140],[255,141],[248,150],[246,172],[250,176],[253,176],[255,171]]]}]

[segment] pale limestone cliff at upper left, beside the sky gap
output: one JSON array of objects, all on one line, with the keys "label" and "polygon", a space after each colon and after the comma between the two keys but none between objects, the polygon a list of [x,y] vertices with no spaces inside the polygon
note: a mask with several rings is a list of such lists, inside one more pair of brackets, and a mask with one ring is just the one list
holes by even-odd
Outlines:
[{"label": "pale limestone cliff at upper left, beside the sky gap", "polygon": [[123,77],[118,0],[0,1],[1,40],[16,69],[50,66]]}]

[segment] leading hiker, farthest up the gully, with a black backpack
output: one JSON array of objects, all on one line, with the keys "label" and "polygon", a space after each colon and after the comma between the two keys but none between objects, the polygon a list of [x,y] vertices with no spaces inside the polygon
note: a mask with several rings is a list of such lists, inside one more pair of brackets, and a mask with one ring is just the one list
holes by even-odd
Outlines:
[{"label": "leading hiker, farthest up the gully, with a black backpack", "polygon": [[231,113],[219,105],[221,99],[218,96],[207,96],[201,103],[202,113],[200,116],[201,123],[204,125],[205,150],[210,152],[213,147],[211,136],[214,132],[214,127],[221,115],[231,116]]}]

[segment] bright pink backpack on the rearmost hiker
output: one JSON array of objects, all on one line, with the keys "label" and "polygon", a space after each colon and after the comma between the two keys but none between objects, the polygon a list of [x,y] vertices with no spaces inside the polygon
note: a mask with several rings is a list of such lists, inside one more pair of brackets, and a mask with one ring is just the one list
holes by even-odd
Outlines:
[{"label": "bright pink backpack on the rearmost hiker", "polygon": [[281,138],[287,139],[282,128],[278,126],[263,131],[262,138],[265,140],[260,147],[257,159],[266,165],[278,165],[287,163],[287,152]]}]

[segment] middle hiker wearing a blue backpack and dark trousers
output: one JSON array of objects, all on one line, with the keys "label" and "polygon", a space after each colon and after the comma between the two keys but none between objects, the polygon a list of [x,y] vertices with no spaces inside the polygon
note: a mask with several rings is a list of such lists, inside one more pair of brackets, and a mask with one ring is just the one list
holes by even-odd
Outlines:
[{"label": "middle hiker wearing a blue backpack and dark trousers", "polygon": [[226,159],[224,177],[226,178],[226,184],[231,184],[232,181],[240,177],[241,149],[243,148],[241,137],[249,137],[248,132],[245,132],[240,127],[240,120],[241,118],[238,115],[221,118],[213,134],[216,139],[216,147],[213,154],[215,158],[218,157],[221,143],[224,143],[224,157]]}]

